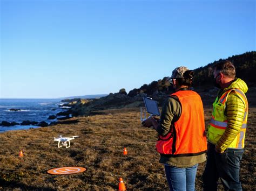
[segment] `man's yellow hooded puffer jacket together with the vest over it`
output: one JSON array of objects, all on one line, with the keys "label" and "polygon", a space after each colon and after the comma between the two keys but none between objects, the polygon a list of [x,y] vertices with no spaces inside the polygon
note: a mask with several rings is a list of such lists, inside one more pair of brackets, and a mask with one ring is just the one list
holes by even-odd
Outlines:
[{"label": "man's yellow hooded puffer jacket together with the vest over it", "polygon": [[216,144],[221,152],[226,148],[244,148],[248,116],[247,90],[243,80],[235,79],[228,88],[219,92],[213,103],[207,139]]}]

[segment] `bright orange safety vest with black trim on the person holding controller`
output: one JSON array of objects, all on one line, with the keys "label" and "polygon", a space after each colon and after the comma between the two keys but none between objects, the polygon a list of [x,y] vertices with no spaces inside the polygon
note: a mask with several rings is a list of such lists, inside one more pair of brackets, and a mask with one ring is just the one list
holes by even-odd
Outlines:
[{"label": "bright orange safety vest with black trim on the person holding controller", "polygon": [[167,157],[205,153],[207,140],[201,97],[191,90],[177,91],[173,95],[181,104],[181,115],[177,122],[172,123],[166,136],[159,135],[157,151]]}]

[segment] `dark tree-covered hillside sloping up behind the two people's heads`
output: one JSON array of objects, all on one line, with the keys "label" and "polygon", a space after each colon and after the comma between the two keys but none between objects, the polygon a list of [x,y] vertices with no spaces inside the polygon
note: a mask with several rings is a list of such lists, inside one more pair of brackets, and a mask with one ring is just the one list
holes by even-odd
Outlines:
[{"label": "dark tree-covered hillside sloping up behind the two people's heads", "polygon": [[[242,80],[244,80],[249,87],[256,86],[256,75],[255,75],[256,74],[256,52],[255,51],[246,52],[241,55],[234,55],[226,59],[233,62],[236,68],[237,77],[240,77]],[[220,59],[218,61],[221,61],[221,60],[223,59]],[[212,87],[212,81],[213,81],[212,67],[218,61],[214,61],[204,67],[194,69],[195,76],[192,84],[194,88],[207,91],[208,88]],[[187,67],[189,67],[189,63],[187,63]],[[142,87],[138,89],[134,88],[128,93],[128,96],[133,97],[141,93],[145,93],[148,96],[152,96],[154,94],[159,94],[159,93],[169,94],[171,93],[171,91],[173,91],[173,89],[172,87],[170,87],[170,83],[167,82],[167,77],[164,77],[162,80],[153,81],[150,84],[144,84]]]}]

